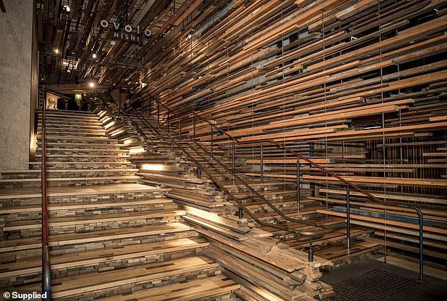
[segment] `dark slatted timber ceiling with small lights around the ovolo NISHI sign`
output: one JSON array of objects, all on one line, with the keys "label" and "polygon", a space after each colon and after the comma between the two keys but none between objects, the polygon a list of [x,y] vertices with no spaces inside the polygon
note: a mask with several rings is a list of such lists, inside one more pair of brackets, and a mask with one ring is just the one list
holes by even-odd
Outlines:
[{"label": "dark slatted timber ceiling with small lights around the ovolo NISHI sign", "polygon": [[151,58],[188,39],[197,25],[193,11],[204,20],[226,2],[37,0],[42,78],[53,85],[140,87]]}]

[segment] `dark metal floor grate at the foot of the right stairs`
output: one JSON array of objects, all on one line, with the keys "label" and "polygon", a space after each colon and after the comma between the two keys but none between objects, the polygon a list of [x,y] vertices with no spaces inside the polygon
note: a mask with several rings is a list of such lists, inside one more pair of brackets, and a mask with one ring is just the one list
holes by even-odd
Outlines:
[{"label": "dark metal floor grate at the foot of the right stairs", "polygon": [[419,281],[398,274],[373,269],[333,283],[335,295],[326,301],[379,301],[416,286]]}]

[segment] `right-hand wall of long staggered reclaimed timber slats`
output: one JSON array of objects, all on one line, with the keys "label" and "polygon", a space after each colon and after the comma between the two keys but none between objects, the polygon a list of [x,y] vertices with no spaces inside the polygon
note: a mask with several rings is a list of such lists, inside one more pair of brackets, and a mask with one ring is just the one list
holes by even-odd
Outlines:
[{"label": "right-hand wall of long staggered reclaimed timber slats", "polygon": [[[165,50],[147,63],[142,96],[181,115],[183,134],[192,135],[195,111],[245,141],[237,158],[253,167],[247,177],[259,178],[259,143],[271,138],[325,160],[341,175],[401,178],[362,188],[440,197],[436,203],[443,206],[447,16],[439,11],[446,6],[427,0],[238,1],[217,20],[204,19],[207,25],[195,23],[197,12],[184,20],[184,28],[195,25],[191,31],[155,46]],[[161,108],[166,121],[165,113]],[[178,117],[170,121],[177,124]],[[230,158],[228,137],[213,132]],[[197,121],[195,134],[209,143],[211,127]],[[444,142],[405,145],[423,141]],[[384,143],[403,145],[386,146],[384,154]],[[294,158],[264,143],[264,160],[277,162],[267,164],[267,177],[295,181]],[[314,193],[343,187],[313,180],[324,174],[302,168],[312,176],[303,179]],[[414,187],[409,178],[440,184]]]}]

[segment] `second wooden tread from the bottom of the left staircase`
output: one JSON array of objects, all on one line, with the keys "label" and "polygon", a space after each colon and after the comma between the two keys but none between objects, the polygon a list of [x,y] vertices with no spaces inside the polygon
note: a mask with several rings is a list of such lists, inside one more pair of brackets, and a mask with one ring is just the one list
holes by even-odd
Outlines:
[{"label": "second wooden tread from the bottom of the left staircase", "polygon": [[[176,276],[197,274],[201,271],[218,269],[219,264],[206,257],[186,257],[165,262],[141,264],[114,271],[93,272],[51,281],[51,297],[72,297],[97,293],[100,290],[116,289],[118,286],[133,286],[135,284],[152,283]],[[39,284],[23,286],[20,289],[32,290],[39,288]]]}]

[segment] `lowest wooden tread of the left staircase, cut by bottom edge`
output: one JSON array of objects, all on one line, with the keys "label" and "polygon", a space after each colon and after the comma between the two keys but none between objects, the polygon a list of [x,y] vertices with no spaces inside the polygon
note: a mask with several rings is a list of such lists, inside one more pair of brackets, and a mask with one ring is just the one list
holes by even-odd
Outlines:
[{"label": "lowest wooden tread of the left staircase, cut by bottom edge", "polygon": [[147,290],[137,290],[132,293],[125,293],[109,298],[104,301],[189,301],[201,300],[202,298],[216,298],[221,295],[231,293],[233,290],[240,288],[231,278],[226,276],[212,276],[197,280],[186,280],[180,283],[174,283],[169,286],[160,286],[158,288],[150,288]]}]

